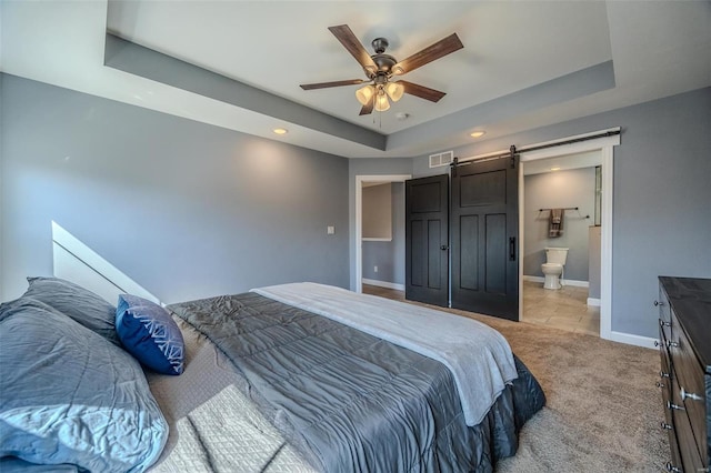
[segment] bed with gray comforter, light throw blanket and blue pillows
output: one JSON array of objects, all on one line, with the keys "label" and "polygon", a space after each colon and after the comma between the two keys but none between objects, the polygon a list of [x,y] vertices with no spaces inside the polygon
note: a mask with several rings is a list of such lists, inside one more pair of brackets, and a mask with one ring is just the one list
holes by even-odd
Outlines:
[{"label": "bed with gray comforter, light throw blanket and blue pillows", "polygon": [[339,288],[29,285],[0,306],[3,472],[485,472],[545,402],[487,325]]}]

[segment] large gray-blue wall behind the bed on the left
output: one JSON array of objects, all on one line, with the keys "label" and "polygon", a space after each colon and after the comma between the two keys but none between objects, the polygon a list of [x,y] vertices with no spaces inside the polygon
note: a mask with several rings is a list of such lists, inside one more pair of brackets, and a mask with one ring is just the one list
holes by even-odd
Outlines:
[{"label": "large gray-blue wall behind the bed on the left", "polygon": [[3,300],[51,274],[51,220],[164,302],[348,286],[347,159],[12,76],[1,98]]}]

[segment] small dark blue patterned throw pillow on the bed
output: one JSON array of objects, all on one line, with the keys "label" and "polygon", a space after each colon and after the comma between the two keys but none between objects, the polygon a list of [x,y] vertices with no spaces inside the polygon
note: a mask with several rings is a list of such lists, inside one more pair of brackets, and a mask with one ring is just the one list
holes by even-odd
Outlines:
[{"label": "small dark blue patterned throw pillow on the bed", "polygon": [[168,311],[138,295],[119,295],[116,331],[123,348],[138,361],[162,374],[181,374],[182,333]]}]

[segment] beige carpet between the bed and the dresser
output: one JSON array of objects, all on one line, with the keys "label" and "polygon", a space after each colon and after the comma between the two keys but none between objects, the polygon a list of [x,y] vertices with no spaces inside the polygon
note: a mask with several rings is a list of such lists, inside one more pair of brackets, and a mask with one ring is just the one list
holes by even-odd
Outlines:
[{"label": "beige carpet between the bed and the dresser", "polygon": [[[441,308],[434,308],[441,309]],[[547,405],[497,472],[660,472],[670,460],[655,350],[449,310],[499,330]]]}]

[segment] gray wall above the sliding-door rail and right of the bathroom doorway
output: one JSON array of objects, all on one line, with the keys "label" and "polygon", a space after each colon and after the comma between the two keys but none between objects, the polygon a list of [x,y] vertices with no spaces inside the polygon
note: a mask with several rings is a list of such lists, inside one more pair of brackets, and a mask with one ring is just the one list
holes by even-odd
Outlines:
[{"label": "gray wall above the sliding-door rail and right of the bathroom doorway", "polygon": [[[660,274],[711,278],[711,88],[459,148],[490,151],[622,127],[614,149],[612,330],[657,336]],[[431,173],[428,157],[413,173]]]}]

